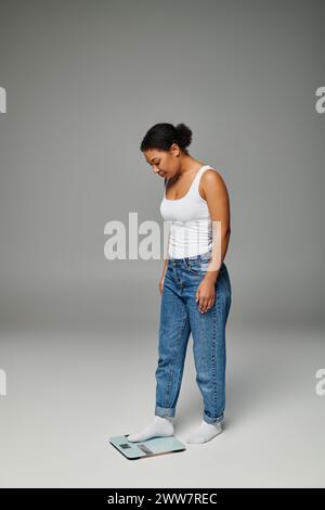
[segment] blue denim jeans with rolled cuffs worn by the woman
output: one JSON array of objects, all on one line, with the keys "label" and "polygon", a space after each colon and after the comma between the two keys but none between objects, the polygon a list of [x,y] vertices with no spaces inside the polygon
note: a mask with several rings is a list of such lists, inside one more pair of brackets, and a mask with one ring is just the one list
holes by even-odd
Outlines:
[{"label": "blue denim jeans with rolled cuffs worn by the woman", "polygon": [[196,290],[207,272],[211,252],[185,258],[169,258],[160,302],[159,359],[155,372],[155,415],[173,417],[181,388],[190,334],[196,382],[204,399],[203,418],[222,421],[225,407],[225,324],[232,288],[222,263],[214,283],[214,304],[200,313]]}]

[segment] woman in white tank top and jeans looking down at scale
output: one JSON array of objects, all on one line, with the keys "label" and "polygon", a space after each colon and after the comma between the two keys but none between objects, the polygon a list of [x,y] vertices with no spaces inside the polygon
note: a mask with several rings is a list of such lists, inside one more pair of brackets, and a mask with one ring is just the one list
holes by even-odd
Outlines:
[{"label": "woman in white tank top and jeans looking down at scale", "polygon": [[[196,382],[204,399],[203,420],[187,443],[206,443],[222,432],[225,407],[225,324],[232,289],[223,262],[230,239],[230,203],[220,174],[195,160],[186,148],[184,124],[153,126],[141,151],[165,178],[160,213],[170,225],[161,294],[159,359],[154,420],[128,441],[173,435],[190,334]],[[216,228],[219,227],[219,235]],[[217,228],[218,230],[218,228]]]}]

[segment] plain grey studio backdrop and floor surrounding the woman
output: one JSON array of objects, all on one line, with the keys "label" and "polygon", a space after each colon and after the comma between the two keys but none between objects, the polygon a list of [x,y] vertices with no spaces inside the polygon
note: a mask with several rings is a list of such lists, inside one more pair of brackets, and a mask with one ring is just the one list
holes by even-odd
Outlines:
[{"label": "plain grey studio backdrop and floor surrounding the woman", "polygon": [[[324,486],[323,20],[315,0],[1,2],[1,486]],[[104,226],[162,226],[139,150],[157,122],[187,124],[230,193],[229,428],[134,464],[107,438],[152,419],[162,260],[107,260]],[[188,348],[181,441],[194,379]]]}]

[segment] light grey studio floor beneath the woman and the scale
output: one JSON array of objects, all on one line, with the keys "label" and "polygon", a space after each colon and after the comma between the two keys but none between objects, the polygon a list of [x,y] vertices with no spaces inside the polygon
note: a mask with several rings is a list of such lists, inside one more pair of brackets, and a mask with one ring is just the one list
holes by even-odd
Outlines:
[{"label": "light grey studio floor beneath the woman and the scale", "polygon": [[[11,329],[1,333],[2,487],[325,486],[324,335],[301,327],[227,327],[226,422],[205,445],[138,461],[108,437],[153,416],[156,334]],[[192,337],[176,436],[199,424]]]}]

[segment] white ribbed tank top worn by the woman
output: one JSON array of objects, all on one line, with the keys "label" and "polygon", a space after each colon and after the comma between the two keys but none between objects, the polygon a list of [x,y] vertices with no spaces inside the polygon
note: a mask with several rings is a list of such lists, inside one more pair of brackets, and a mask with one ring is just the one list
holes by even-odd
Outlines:
[{"label": "white ribbed tank top worn by the woman", "polygon": [[160,203],[160,214],[169,222],[168,257],[184,258],[212,250],[212,221],[207,202],[200,196],[198,187],[200,177],[209,165],[204,165],[197,171],[190,190],[181,199],[164,199]]}]

